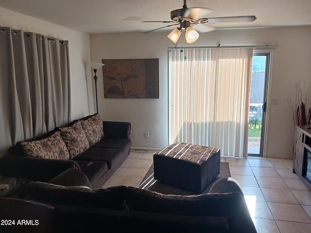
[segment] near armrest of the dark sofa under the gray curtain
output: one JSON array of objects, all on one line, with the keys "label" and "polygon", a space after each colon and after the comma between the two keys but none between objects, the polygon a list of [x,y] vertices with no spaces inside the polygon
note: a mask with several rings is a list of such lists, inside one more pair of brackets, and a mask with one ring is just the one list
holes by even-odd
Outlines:
[{"label": "near armrest of the dark sofa under the gray curtain", "polygon": [[80,166],[73,160],[42,159],[23,156],[4,156],[0,159],[2,176],[25,178],[32,181],[49,182],[67,170]]}]

